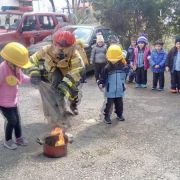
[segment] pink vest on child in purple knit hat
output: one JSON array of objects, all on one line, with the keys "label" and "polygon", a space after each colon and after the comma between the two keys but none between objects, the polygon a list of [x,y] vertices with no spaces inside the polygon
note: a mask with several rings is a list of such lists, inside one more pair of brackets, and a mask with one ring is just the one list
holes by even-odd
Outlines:
[{"label": "pink vest on child in purple knit hat", "polygon": [[[137,66],[138,64],[138,51],[139,48],[134,49],[134,65]],[[145,46],[144,48],[144,69],[147,70],[149,68],[149,60],[147,59],[148,56],[150,56],[151,52],[148,46]]]}]

